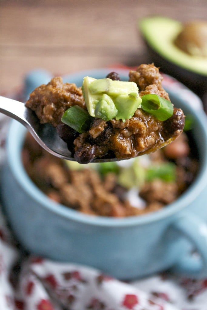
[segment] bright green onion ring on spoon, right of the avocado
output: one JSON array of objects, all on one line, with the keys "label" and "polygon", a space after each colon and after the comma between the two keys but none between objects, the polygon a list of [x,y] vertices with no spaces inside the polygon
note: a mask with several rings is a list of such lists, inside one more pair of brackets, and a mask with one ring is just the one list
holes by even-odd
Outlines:
[{"label": "bright green onion ring on spoon, right of the avocado", "polygon": [[160,121],[166,121],[166,119],[173,115],[173,104],[169,100],[155,94],[142,96],[141,107]]}]

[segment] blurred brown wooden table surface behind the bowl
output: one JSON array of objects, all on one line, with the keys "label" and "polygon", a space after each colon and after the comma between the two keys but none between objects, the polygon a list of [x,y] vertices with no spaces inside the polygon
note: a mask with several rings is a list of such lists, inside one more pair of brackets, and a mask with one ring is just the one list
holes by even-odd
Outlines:
[{"label": "blurred brown wooden table surface behind the bowl", "polygon": [[137,31],[143,16],[205,19],[206,0],[1,0],[1,94],[44,68],[64,75],[111,64],[136,66],[148,54]]}]

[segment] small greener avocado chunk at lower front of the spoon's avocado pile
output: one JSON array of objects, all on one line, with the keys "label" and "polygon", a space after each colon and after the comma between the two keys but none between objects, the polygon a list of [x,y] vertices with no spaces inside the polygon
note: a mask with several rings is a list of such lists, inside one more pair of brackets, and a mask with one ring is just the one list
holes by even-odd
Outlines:
[{"label": "small greener avocado chunk at lower front of the spoon's avocado pile", "polygon": [[110,121],[118,113],[118,110],[114,104],[114,101],[109,95],[103,94],[96,104],[95,116],[103,119],[104,121]]}]

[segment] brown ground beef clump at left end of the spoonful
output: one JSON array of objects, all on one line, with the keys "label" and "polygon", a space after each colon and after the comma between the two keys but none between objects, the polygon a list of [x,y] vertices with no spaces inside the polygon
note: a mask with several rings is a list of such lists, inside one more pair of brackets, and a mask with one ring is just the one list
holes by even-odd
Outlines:
[{"label": "brown ground beef clump at left end of the spoonful", "polygon": [[81,87],[63,83],[61,77],[37,87],[26,101],[26,106],[35,111],[41,123],[50,123],[54,127],[61,123],[65,110],[73,105],[85,108]]}]

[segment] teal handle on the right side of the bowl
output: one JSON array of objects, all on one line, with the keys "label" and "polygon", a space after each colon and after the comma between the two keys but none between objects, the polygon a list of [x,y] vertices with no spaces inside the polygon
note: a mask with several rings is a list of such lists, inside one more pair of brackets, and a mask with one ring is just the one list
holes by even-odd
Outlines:
[{"label": "teal handle on the right side of the bowl", "polygon": [[187,237],[198,255],[183,253],[172,268],[173,272],[194,278],[207,276],[207,225],[191,212],[185,213],[173,223],[179,234]]}]

